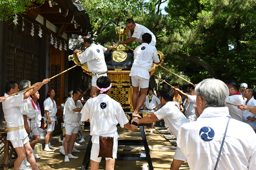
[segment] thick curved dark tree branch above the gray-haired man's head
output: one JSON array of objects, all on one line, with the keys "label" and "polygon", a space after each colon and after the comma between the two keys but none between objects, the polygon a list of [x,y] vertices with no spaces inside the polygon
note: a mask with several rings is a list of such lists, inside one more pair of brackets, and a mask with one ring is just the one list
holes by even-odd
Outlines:
[{"label": "thick curved dark tree branch above the gray-haired man's head", "polygon": [[204,60],[200,59],[200,58],[196,58],[196,57],[192,57],[192,56],[189,56],[187,54],[184,54],[182,52],[180,52],[179,50],[177,50],[176,52],[174,52],[176,55],[179,55],[180,57],[182,58],[185,58],[189,61],[193,61],[193,62],[196,62],[197,64],[201,65],[204,67],[204,69],[206,71],[208,71],[208,73],[210,74],[211,77],[214,77],[214,78],[218,78],[217,74],[215,73],[215,71],[212,69],[212,67],[206,63]]}]

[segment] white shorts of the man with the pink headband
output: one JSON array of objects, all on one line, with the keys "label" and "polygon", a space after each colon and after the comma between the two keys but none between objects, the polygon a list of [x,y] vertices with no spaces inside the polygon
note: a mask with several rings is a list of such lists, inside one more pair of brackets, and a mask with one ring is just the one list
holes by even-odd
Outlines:
[{"label": "white shorts of the man with the pink headband", "polygon": [[[113,159],[117,158],[117,140],[114,141],[113,144]],[[95,162],[100,162],[101,161],[101,157],[98,158],[100,152],[100,144],[92,144],[92,150],[91,150],[91,160],[95,161]],[[112,159],[112,158],[106,158],[106,160],[108,159]]]}]

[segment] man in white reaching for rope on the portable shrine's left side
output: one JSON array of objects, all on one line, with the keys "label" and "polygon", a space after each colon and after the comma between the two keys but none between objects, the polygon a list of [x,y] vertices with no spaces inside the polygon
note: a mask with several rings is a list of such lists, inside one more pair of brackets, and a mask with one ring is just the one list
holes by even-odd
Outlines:
[{"label": "man in white reaching for rope on the portable shrine's left side", "polygon": [[79,54],[79,50],[75,50],[74,54],[80,61],[80,63],[87,62],[88,69],[92,71],[92,89],[90,95],[92,98],[96,95],[96,81],[100,76],[107,76],[107,64],[105,62],[104,52],[113,49],[113,46],[105,48],[101,45],[96,45],[90,36],[84,37],[84,44],[87,47],[86,50]]}]

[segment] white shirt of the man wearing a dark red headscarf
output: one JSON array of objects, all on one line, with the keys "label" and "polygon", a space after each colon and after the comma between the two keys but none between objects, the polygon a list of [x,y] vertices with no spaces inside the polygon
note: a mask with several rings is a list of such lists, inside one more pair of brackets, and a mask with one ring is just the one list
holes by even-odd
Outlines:
[{"label": "white shirt of the man wearing a dark red headscarf", "polygon": [[[54,102],[54,106],[53,106],[53,103],[52,103],[52,100],[50,97],[48,97],[47,99],[44,100],[44,111],[48,110],[51,121],[56,120],[55,116],[57,113],[56,102],[54,100],[53,100],[53,102]],[[44,122],[46,122],[46,120],[47,120],[47,116],[44,112]]]}]

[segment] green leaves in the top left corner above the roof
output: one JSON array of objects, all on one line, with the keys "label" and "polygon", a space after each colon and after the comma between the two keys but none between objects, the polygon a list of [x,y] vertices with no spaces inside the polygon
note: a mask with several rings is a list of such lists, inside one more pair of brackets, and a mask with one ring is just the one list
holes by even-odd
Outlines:
[{"label": "green leaves in the top left corner above the roof", "polygon": [[7,21],[13,18],[14,14],[26,12],[32,4],[40,3],[42,4],[45,0],[1,0],[0,2],[0,20]]}]

